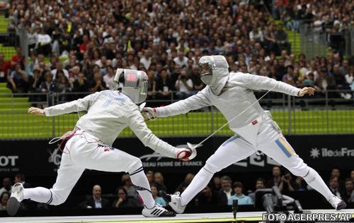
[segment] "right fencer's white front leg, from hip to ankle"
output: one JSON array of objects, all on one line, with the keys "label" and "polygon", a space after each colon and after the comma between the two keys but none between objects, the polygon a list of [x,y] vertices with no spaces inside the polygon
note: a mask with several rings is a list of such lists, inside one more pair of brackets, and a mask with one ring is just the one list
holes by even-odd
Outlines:
[{"label": "right fencer's white front leg, from hip to ankle", "polygon": [[256,148],[239,138],[239,136],[235,135],[229,138],[229,140],[226,140],[220,145],[217,151],[207,159],[205,166],[200,169],[190,185],[185,188],[185,191],[181,194],[181,205],[187,205],[195,195],[202,191],[216,172],[249,157],[254,152],[256,152]]}]

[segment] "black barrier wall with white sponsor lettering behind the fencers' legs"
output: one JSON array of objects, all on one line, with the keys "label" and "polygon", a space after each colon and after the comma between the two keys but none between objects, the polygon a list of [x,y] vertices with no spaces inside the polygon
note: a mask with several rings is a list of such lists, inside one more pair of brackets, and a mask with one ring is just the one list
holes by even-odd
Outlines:
[{"label": "black barrier wall with white sponsor lettering behind the fencers' legs", "polygon": [[[204,138],[165,138],[171,145],[185,147],[186,142],[199,143]],[[195,172],[205,164],[207,157],[228,138],[215,137],[198,148],[198,156],[190,162],[162,157],[137,138],[118,139],[114,147],[129,152],[142,159],[145,169],[167,173]],[[354,135],[290,135],[287,140],[304,162],[314,169],[330,171],[354,169]],[[28,176],[55,176],[62,152],[57,145],[48,145],[47,140],[8,140],[0,143],[0,176],[21,172]],[[281,152],[281,150],[279,150]],[[112,151],[107,151],[112,152]],[[119,161],[118,161],[119,162]],[[220,160],[222,162],[222,160]],[[263,154],[251,157],[224,169],[224,172],[245,171],[270,172],[277,163]],[[93,172],[94,174],[94,172]]]}]

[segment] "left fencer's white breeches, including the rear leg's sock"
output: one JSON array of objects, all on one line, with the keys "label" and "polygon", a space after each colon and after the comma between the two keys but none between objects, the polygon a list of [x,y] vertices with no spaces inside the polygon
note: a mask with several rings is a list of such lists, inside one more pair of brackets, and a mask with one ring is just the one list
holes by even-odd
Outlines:
[{"label": "left fencer's white breeches, including the rear leg's sock", "polygon": [[50,205],[62,204],[85,169],[135,174],[142,171],[142,162],[127,152],[100,145],[91,135],[78,130],[65,145],[54,186],[50,190],[25,189],[24,198]]}]

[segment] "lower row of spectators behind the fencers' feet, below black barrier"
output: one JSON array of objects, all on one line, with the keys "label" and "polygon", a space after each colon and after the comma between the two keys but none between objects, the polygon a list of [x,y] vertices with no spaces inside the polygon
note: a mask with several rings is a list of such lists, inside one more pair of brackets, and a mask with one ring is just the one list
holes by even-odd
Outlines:
[{"label": "lower row of spectators behind the fencers' feet, below black barrier", "polygon": [[[167,193],[182,193],[185,188],[193,180],[194,174],[187,174],[185,179],[176,187],[176,185],[168,185],[164,182],[164,176],[160,172],[146,171],[147,179],[150,183],[152,196],[156,203],[166,207],[168,204],[160,197],[159,191]],[[268,174],[263,174],[268,175]],[[241,181],[234,181],[230,176],[215,175],[210,183],[200,191],[193,199],[190,205],[232,205],[233,200],[238,200],[239,205],[254,205],[255,191],[257,189],[272,188],[278,186],[280,193],[284,195],[293,195],[294,193],[302,193],[312,191],[301,176],[293,176],[289,172],[282,174],[280,167],[274,166],[272,176],[266,178],[258,177],[255,179],[253,186],[244,187]],[[343,181],[343,179],[345,179]],[[10,177],[4,177],[2,188],[0,188],[1,206],[0,210],[6,208],[6,202],[11,195],[12,183],[23,183],[25,188],[30,184],[25,181],[23,174],[17,174],[14,181]],[[350,172],[350,176],[343,178],[339,169],[332,169],[327,184],[332,193],[338,198],[343,199],[346,203],[354,203],[354,170]],[[103,193],[104,192],[104,193]],[[316,193],[316,191],[314,191]],[[320,202],[320,201],[319,201]],[[325,201],[324,201],[325,202]],[[25,200],[21,206],[23,209],[47,208],[45,204],[34,203]],[[119,186],[115,191],[107,191],[96,184],[92,187],[92,193],[88,193],[84,200],[76,200],[76,208],[125,208],[125,207],[143,207],[142,198],[135,190],[129,174],[123,174],[120,179]]]}]

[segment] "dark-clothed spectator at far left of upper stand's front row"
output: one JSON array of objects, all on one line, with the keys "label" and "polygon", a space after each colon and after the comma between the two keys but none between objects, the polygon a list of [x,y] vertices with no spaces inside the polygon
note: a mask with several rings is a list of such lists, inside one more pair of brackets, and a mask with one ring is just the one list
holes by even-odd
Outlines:
[{"label": "dark-clothed spectator at far left of upper stand's front row", "polygon": [[12,71],[8,78],[8,87],[13,93],[27,93],[30,88],[28,74],[21,69],[20,64],[16,64],[15,70]]}]

